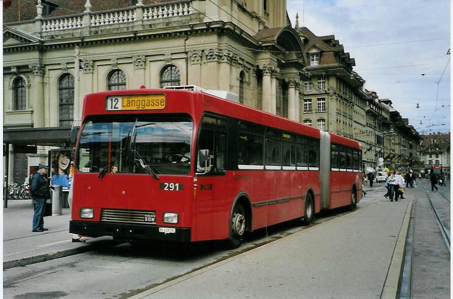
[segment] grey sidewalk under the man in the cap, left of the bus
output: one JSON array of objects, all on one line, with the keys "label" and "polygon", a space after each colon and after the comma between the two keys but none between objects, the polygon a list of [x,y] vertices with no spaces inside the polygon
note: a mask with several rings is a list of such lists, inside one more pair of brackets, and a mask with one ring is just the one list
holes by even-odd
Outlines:
[{"label": "grey sidewalk under the man in the cap, left of the bus", "polygon": [[31,200],[9,200],[3,209],[3,269],[24,266],[41,261],[89,251],[112,238],[87,239],[86,243],[72,243],[69,233],[70,209],[62,215],[44,217],[43,233],[31,232],[33,205]]}]

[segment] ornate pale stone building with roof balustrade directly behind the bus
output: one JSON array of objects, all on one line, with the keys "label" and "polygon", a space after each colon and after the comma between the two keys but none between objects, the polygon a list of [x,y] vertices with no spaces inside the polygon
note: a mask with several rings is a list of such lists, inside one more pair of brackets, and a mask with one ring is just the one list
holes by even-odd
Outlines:
[{"label": "ornate pale stone building with roof balustrade directly behind the bus", "polygon": [[[3,11],[10,160],[46,162],[44,145],[61,140],[44,142],[38,130],[68,132],[81,118],[84,95],[103,90],[199,85],[300,121],[307,62],[285,0],[91,2],[13,0]],[[37,144],[37,153],[13,155],[19,144]],[[19,171],[16,164],[10,173]]]}]

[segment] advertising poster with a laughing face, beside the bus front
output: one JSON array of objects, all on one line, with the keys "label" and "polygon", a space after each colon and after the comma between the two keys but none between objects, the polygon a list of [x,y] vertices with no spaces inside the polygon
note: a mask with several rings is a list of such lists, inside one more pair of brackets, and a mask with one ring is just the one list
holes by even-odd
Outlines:
[{"label": "advertising poster with a laughing face, beside the bus front", "polygon": [[69,191],[74,175],[74,149],[51,149],[49,160],[51,185],[60,185],[63,191]]}]

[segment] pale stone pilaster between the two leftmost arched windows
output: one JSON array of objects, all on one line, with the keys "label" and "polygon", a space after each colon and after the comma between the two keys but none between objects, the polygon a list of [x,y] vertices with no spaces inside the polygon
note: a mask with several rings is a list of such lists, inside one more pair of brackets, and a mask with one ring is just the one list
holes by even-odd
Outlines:
[{"label": "pale stone pilaster between the two leftmost arched windows", "polygon": [[33,123],[35,128],[42,128],[45,126],[44,120],[44,65],[41,63],[34,63],[28,65],[33,71],[33,89],[30,92],[30,106],[33,109]]}]

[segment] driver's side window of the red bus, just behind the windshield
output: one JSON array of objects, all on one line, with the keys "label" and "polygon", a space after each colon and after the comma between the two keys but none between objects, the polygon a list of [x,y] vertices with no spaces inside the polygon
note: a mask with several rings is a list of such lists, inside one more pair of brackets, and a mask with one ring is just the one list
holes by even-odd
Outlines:
[{"label": "driver's side window of the red bus, just behind the windshield", "polygon": [[[200,136],[198,137],[198,149],[209,149],[211,165],[208,165],[208,173],[225,173],[226,120],[211,116],[205,116],[203,118]],[[196,172],[200,171],[196,169]]]}]

